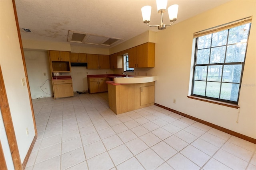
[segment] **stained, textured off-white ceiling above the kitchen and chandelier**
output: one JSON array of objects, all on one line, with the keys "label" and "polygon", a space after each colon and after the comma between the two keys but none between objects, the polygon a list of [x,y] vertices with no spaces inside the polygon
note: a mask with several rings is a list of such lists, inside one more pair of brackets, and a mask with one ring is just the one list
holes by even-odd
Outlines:
[{"label": "stained, textured off-white ceiling above the kitchen and chandelier", "polygon": [[[168,0],[167,8],[179,5],[176,24],[226,2]],[[158,31],[142,21],[140,9],[146,5],[152,6],[150,24],[160,23],[155,0],[16,0],[15,3],[20,28],[32,31],[26,33],[21,29],[22,39],[67,42],[71,30],[124,39],[118,42],[122,43],[147,30]],[[170,23],[167,12],[164,23]]]}]

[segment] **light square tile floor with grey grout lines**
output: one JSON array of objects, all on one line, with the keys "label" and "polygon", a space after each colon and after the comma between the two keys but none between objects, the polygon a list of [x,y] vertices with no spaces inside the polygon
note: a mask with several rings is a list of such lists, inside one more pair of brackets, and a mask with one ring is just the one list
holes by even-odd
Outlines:
[{"label": "light square tile floor with grey grout lines", "polygon": [[158,106],[116,115],[108,93],[33,100],[26,170],[256,170],[256,145]]}]

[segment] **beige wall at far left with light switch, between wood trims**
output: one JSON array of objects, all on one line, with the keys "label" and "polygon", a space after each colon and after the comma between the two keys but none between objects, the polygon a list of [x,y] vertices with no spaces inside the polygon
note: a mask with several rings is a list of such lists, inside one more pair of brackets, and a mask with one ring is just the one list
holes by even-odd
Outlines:
[{"label": "beige wall at far left with light switch, between wood trims", "polygon": [[[0,17],[0,65],[20,159],[23,162],[34,139],[35,131],[27,82],[22,86],[21,81],[22,78],[25,80],[26,78],[11,0],[0,0]],[[28,136],[26,128],[29,131]]]}]

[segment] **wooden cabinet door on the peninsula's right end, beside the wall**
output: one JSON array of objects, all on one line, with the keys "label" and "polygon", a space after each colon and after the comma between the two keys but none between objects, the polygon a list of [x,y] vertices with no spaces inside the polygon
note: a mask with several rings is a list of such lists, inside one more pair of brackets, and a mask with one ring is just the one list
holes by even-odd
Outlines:
[{"label": "wooden cabinet door on the peninsula's right end, beside the wall", "polygon": [[154,86],[140,88],[140,106],[154,103]]}]

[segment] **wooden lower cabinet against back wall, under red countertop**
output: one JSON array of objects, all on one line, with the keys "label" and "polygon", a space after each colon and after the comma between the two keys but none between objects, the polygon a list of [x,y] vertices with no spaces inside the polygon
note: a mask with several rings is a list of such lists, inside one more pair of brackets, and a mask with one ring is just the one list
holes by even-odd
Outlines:
[{"label": "wooden lower cabinet against back wall, under red countertop", "polygon": [[89,93],[107,92],[108,86],[106,84],[106,77],[102,78],[88,78]]}]

